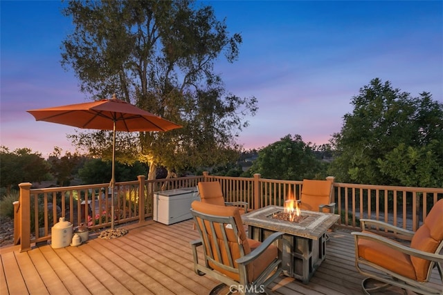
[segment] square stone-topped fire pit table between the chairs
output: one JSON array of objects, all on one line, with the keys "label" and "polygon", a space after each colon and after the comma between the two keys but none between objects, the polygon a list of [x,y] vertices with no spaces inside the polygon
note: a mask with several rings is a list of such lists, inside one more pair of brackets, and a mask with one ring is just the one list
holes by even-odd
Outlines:
[{"label": "square stone-topped fire pit table between the chairs", "polygon": [[249,238],[260,242],[276,231],[284,233],[283,242],[279,245],[283,273],[307,284],[326,258],[326,231],[340,216],[301,211],[303,219],[300,222],[273,218],[274,213],[282,211],[283,207],[267,206],[242,215],[242,220],[248,225]]}]

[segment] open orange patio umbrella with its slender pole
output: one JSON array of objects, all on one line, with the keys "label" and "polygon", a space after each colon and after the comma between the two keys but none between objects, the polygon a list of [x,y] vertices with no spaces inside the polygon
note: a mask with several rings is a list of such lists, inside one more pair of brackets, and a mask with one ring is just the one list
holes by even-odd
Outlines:
[{"label": "open orange patio umbrella with its slender pole", "polygon": [[96,102],[69,104],[28,111],[37,121],[53,122],[82,129],[112,130],[112,190],[111,229],[114,229],[114,184],[116,158],[116,131],[169,131],[180,125],[163,119],[123,100],[101,99]]}]

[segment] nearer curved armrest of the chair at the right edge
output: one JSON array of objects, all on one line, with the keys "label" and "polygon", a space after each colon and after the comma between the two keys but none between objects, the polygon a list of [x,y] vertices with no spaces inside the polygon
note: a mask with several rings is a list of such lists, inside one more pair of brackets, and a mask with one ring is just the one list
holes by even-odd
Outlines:
[{"label": "nearer curved armrest of the chair at the right edge", "polygon": [[401,251],[402,253],[408,254],[410,256],[431,260],[437,263],[443,263],[443,255],[413,249],[377,234],[362,233],[359,231],[354,231],[351,234],[354,235],[355,242],[357,242],[360,238],[365,240],[373,240],[374,242],[379,242],[381,245],[386,245],[392,249],[396,249],[397,251]]}]

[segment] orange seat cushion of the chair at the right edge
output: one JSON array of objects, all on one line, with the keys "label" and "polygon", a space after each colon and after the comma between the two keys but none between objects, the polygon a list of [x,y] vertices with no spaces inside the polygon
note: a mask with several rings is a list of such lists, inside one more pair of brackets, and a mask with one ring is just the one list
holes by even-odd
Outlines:
[{"label": "orange seat cushion of the chair at the right edge", "polygon": [[[372,234],[369,231],[363,232]],[[376,236],[375,234],[373,235]],[[401,276],[406,276],[413,280],[416,279],[415,269],[408,255],[386,245],[381,245],[379,242],[363,238],[359,239],[357,247],[359,248],[359,257],[392,272],[401,274]]]}]

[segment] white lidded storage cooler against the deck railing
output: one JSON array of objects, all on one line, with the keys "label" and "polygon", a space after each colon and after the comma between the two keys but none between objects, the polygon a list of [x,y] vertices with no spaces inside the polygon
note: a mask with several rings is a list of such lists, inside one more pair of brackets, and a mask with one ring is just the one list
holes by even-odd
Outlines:
[{"label": "white lidded storage cooler against the deck railing", "polygon": [[197,187],[158,191],[154,194],[154,221],[165,225],[192,218],[191,203],[200,200]]}]

